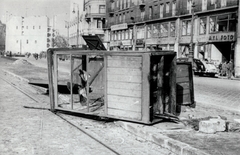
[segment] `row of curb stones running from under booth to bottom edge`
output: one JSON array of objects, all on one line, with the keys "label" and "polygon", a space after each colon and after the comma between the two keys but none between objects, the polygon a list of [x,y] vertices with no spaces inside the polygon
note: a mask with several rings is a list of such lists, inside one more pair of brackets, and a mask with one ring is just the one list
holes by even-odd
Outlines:
[{"label": "row of curb stones running from under booth to bottom edge", "polygon": [[123,121],[117,121],[115,124],[127,130],[128,132],[166,148],[177,155],[209,155],[208,153],[193,148],[188,144],[169,138],[159,133],[159,131],[157,132],[157,129],[156,131],[154,131],[154,129],[151,131],[146,131],[145,129],[139,128],[139,124]]}]

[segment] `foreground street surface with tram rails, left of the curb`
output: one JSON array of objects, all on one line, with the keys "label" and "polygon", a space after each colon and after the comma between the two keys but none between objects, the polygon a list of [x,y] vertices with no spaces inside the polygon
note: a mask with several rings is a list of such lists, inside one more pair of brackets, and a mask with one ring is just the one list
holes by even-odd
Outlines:
[{"label": "foreground street surface with tram rails, left of the curb", "polygon": [[2,70],[0,85],[1,155],[173,155],[114,122],[54,114],[48,96]]}]

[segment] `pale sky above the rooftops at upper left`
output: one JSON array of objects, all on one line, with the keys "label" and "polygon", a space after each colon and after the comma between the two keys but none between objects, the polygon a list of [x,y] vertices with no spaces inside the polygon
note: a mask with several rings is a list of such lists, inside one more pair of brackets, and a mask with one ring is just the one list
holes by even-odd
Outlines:
[{"label": "pale sky above the rooftops at upper left", "polygon": [[67,35],[71,0],[0,0],[0,20],[6,23],[12,16],[56,16],[56,28]]}]

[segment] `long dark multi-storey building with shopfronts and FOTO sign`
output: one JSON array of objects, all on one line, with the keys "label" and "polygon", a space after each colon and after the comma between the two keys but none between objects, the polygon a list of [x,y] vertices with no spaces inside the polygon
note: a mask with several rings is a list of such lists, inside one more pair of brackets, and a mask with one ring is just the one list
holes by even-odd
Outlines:
[{"label": "long dark multi-storey building with shopfronts and FOTO sign", "polygon": [[105,39],[111,50],[174,50],[177,57],[189,57],[193,45],[195,58],[234,59],[240,76],[238,5],[238,0],[106,0]]}]

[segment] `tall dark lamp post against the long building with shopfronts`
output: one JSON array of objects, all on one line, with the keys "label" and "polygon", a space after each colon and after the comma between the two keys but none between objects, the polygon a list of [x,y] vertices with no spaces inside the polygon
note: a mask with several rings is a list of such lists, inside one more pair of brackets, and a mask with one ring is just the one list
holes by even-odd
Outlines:
[{"label": "tall dark lamp post against the long building with shopfronts", "polygon": [[194,49],[193,49],[194,7],[195,7],[195,2],[193,2],[192,0],[191,39],[189,44],[189,56],[188,56],[188,61],[191,63],[193,63],[193,57],[194,57]]}]

